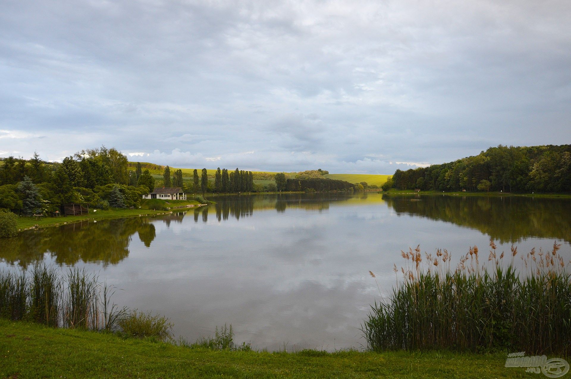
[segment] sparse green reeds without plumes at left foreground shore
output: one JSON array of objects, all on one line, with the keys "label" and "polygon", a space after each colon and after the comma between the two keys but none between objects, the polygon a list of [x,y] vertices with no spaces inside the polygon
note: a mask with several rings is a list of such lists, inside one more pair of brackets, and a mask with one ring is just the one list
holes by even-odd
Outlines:
[{"label": "sparse green reeds without plumes at left foreground shore", "polygon": [[85,269],[62,274],[38,264],[27,271],[0,271],[0,317],[51,327],[113,331],[126,308],[111,303],[112,287]]}]

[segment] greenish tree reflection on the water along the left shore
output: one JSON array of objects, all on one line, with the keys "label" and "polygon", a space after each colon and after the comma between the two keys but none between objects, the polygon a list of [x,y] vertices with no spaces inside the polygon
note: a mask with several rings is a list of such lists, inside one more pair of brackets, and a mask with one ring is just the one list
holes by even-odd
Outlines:
[{"label": "greenish tree reflection on the water along the left shore", "polygon": [[[170,223],[168,217],[163,219]],[[116,264],[129,255],[131,236],[138,233],[144,246],[156,237],[155,226],[147,218],[83,221],[60,227],[23,231],[14,238],[0,239],[0,259],[27,267],[41,262],[49,253],[59,265],[73,266],[79,260]]]}]

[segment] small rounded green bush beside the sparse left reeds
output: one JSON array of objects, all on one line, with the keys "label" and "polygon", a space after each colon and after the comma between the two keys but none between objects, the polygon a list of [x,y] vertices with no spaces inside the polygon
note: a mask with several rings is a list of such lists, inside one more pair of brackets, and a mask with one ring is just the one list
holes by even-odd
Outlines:
[{"label": "small rounded green bush beside the sparse left reeds", "polygon": [[119,320],[119,328],[127,337],[154,337],[160,341],[172,338],[172,324],[164,316],[134,311]]}]

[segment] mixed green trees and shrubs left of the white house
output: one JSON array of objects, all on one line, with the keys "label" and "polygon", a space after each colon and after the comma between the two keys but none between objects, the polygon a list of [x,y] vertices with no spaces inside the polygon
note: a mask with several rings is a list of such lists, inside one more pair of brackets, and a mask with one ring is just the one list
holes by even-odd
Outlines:
[{"label": "mixed green trees and shrubs left of the white house", "polygon": [[66,203],[91,207],[138,206],[152,191],[154,178],[145,170],[133,180],[127,157],[115,148],[81,150],[59,162],[13,156],[0,165],[0,210],[30,216],[54,214]]}]

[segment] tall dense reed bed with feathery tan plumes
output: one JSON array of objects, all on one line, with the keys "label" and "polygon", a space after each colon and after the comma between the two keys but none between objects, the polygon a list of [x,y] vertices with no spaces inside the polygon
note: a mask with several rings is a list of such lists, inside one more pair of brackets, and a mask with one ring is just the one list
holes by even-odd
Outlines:
[{"label": "tall dense reed bed with feathery tan plumes", "polygon": [[559,248],[497,254],[490,241],[487,259],[474,246],[455,269],[447,250],[401,251],[404,278],[361,325],[368,348],[571,355],[571,262]]}]

